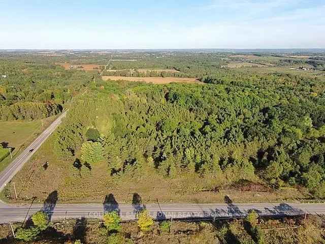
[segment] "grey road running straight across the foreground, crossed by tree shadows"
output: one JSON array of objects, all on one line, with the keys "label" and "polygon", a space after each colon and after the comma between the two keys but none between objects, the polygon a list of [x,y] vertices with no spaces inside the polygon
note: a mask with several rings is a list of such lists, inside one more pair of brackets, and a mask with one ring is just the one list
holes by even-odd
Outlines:
[{"label": "grey road running straight across the foreground, crossed by tree shadows", "polygon": [[104,212],[116,210],[123,220],[133,220],[137,211],[146,208],[153,218],[229,218],[245,217],[254,209],[260,216],[297,216],[308,214],[325,214],[325,204],[312,203],[239,203],[239,204],[43,204],[25,206],[0,206],[0,223],[23,221],[38,210],[47,212],[51,220],[64,218],[102,219]]}]

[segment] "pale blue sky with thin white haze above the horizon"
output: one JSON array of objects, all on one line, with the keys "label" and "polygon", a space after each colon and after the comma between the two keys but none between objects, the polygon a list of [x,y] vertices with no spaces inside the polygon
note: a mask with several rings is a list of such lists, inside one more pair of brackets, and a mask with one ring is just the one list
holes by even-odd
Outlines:
[{"label": "pale blue sky with thin white haze above the horizon", "polygon": [[325,48],[325,0],[0,0],[0,49]]}]

